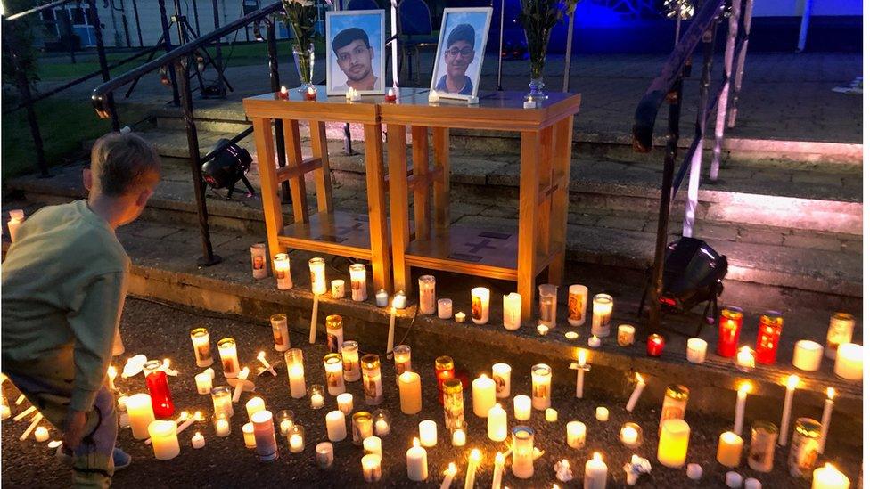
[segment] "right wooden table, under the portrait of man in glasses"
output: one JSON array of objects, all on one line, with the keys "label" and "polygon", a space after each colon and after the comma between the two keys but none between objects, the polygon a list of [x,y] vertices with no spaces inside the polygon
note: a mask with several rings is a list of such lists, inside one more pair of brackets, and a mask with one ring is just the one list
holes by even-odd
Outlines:
[{"label": "right wooden table, under the portrait of man in glasses", "polygon": [[[430,104],[427,95],[380,106],[387,126],[393,283],[396,289],[412,289],[411,266],[516,281],[522,318],[529,320],[538,273],[546,268],[548,283],[562,282],[573,118],[580,95],[549,94],[536,109],[523,109],[519,92],[480,94],[478,105]],[[406,126],[411,126],[411,172]],[[450,224],[451,128],[521,133],[519,232]],[[413,240],[408,192],[414,199]]]}]

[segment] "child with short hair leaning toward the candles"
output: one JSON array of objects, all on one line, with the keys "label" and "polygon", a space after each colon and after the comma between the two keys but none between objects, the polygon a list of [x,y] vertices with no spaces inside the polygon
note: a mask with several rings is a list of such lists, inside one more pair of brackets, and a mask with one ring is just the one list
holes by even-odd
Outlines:
[{"label": "child with short hair leaning toward the candles", "polygon": [[2,269],[0,350],[4,373],[62,431],[73,485],[108,487],[116,463],[129,464],[114,448],[106,386],[130,264],[115,229],[142,214],[160,157],[135,134],[106,134],[88,179],[87,200],[42,208],[21,224]]}]

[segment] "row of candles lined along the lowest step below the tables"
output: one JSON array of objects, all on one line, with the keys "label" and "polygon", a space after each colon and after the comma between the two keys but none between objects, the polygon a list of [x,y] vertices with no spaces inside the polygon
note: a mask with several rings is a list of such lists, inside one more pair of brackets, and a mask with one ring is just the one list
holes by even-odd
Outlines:
[{"label": "row of candles lined along the lowest step below the tables", "polygon": [[[267,277],[267,253],[266,245],[255,244],[250,249],[251,264],[254,278]],[[290,277],[290,257],[280,253],[275,256],[275,277],[278,289],[290,289],[292,279]],[[316,334],[316,308],[317,297],[326,293],[326,276],[323,258],[312,258],[308,261],[311,274],[312,292],[315,294],[314,311],[311,320],[310,342],[314,342]],[[367,285],[365,265],[354,264],[349,268],[352,299],[357,302],[367,300]],[[332,297],[343,298],[345,296],[344,281],[333,280]],[[449,298],[436,299],[435,277],[423,275],[418,280],[419,289],[419,313],[438,314],[440,319],[454,318],[457,322],[465,321],[463,312],[453,313],[453,302]],[[588,288],[584,285],[574,284],[568,288],[568,322],[571,326],[582,326],[587,321],[587,297]],[[386,291],[379,290],[376,295],[377,306],[388,306],[389,296]],[[490,291],[485,287],[475,287],[471,290],[472,322],[475,324],[487,324],[489,322]],[[613,313],[613,297],[608,294],[596,294],[592,300],[592,324],[589,346],[601,346],[601,338],[611,334],[611,315]],[[392,302],[390,314],[390,330],[395,328],[395,310],[406,306],[406,297],[403,292],[398,292]],[[556,326],[556,311],[558,306],[557,287],[553,284],[538,286],[538,332],[546,334]],[[521,296],[512,292],[503,297],[503,325],[506,330],[519,330],[521,326]],[[775,311],[762,314],[759,319],[759,332],[756,338],[755,349],[751,346],[739,346],[740,332],[743,329],[743,310],[735,306],[726,306],[722,309],[718,322],[718,341],[716,345],[717,355],[724,358],[734,358],[735,365],[740,371],[749,371],[756,363],[776,363],[776,353],[779,348],[779,340],[783,331],[783,316]],[[831,316],[829,323],[826,345],[801,339],[795,343],[792,364],[802,371],[817,371],[821,367],[822,357],[827,356],[834,360],[834,373],[849,380],[860,380],[863,375],[864,347],[851,343],[855,328],[855,318],[851,314],[836,313]],[[573,334],[572,334],[573,333]],[[621,324],[618,327],[617,342],[620,346],[634,344],[635,328],[629,324]],[[574,331],[568,335],[576,338]],[[567,336],[567,335],[566,335]],[[392,335],[388,338],[389,352],[392,347]],[[707,355],[707,342],[702,338],[690,338],[686,345],[686,358],[692,363],[703,363]],[[647,355],[660,356],[664,351],[665,339],[661,335],[653,334],[647,338]]]}]

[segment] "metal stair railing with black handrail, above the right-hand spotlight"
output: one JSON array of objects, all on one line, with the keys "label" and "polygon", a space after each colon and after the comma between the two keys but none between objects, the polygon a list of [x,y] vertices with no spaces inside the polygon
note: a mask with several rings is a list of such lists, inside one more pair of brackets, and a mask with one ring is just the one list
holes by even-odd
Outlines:
[{"label": "metal stair railing with black handrail, above the right-hand spotlight", "polygon": [[[664,167],[661,176],[661,200],[659,220],[656,229],[655,253],[652,274],[647,290],[652,293],[649,309],[649,327],[657,330],[661,325],[662,275],[664,272],[665,248],[668,245],[668,224],[671,203],[677,196],[685,175],[689,183],[685,201],[683,235],[692,236],[694,212],[698,205],[698,187],[701,183],[703,146],[711,115],[716,113],[715,141],[710,162],[710,180],[718,178],[722,143],[725,139],[726,122],[735,125],[737,117],[737,97],[743,78],[743,63],[746,61],[746,48],[749,42],[753,0],[707,0],[695,13],[692,24],[670,53],[661,75],[653,80],[646,94],[637,104],[635,122],[632,126],[635,151],[653,150],[653,126],[658,117],[661,104],[668,102],[668,135],[665,143]],[[741,22],[741,12],[743,22]],[[718,22],[728,20],[728,35],[724,56],[724,69],[721,84],[710,97],[710,73],[713,51],[716,43]],[[694,138],[689,144],[685,158],[676,171],[677,142],[679,140],[680,110],[683,102],[683,81],[691,75],[692,56],[699,43],[703,43],[703,68],[701,74],[701,94],[698,101],[698,117],[695,121]],[[739,50],[735,46],[740,46]],[[735,65],[736,69],[732,69]],[[736,74],[736,77],[733,75]],[[730,98],[730,113],[729,109]],[[727,120],[726,120],[727,119]]]}]

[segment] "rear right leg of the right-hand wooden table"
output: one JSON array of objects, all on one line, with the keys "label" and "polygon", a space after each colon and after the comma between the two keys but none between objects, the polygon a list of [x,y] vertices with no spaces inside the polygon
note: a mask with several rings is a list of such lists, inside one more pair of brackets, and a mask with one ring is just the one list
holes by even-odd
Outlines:
[{"label": "rear right leg of the right-hand wooden table", "polygon": [[553,208],[550,214],[550,251],[554,253],[547,267],[547,281],[559,285],[565,273],[565,246],[568,240],[568,184],[570,183],[570,155],[574,129],[574,116],[563,118],[555,125],[554,134],[554,184],[559,188],[553,193]]}]

